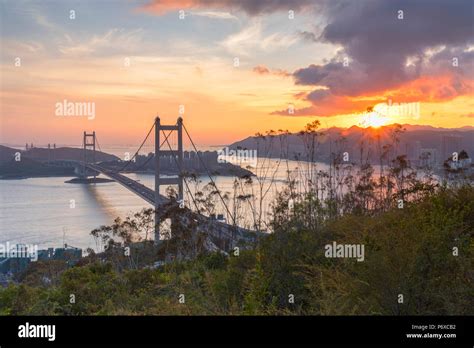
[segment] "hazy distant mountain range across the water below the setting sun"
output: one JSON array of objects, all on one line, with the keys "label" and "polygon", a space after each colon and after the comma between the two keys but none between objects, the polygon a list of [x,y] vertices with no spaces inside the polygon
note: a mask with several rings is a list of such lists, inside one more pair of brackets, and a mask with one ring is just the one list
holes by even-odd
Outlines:
[{"label": "hazy distant mountain range across the water below the setting sun", "polygon": [[[401,127],[399,142],[393,142],[393,134]],[[429,153],[430,161],[442,163],[453,152],[465,150],[474,157],[474,127],[436,128],[423,125],[387,125],[379,128],[331,127],[323,129],[318,135],[318,146],[313,160],[329,162],[331,153],[348,152],[351,162],[359,161],[361,156],[378,163],[381,149],[386,144],[393,144],[393,152],[405,154],[408,159],[418,161],[420,156]],[[294,133],[287,136],[247,137],[229,145],[230,149],[256,150],[259,157],[288,158],[311,160],[308,151],[308,139]],[[361,152],[362,148],[362,152]]]}]

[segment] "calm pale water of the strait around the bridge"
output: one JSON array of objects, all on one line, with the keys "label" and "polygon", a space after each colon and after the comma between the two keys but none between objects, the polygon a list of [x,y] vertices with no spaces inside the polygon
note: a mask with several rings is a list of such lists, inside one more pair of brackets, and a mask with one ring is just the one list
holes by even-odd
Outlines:
[{"label": "calm pale water of the strait around the bridge", "polygon": [[[120,150],[109,153],[120,153]],[[267,160],[268,162],[269,160]],[[275,161],[270,160],[270,166]],[[292,167],[296,164],[292,164]],[[273,201],[278,189],[284,184],[286,166],[277,171],[273,185],[265,199],[265,207]],[[154,177],[147,174],[130,174],[150,188],[154,188]],[[97,249],[90,231],[108,225],[120,216],[151,207],[121,185],[100,183],[92,185],[67,184],[70,177],[30,178],[0,180],[0,243],[38,244],[39,248],[59,247],[64,242],[81,248]],[[209,178],[201,178],[201,188]],[[223,192],[233,191],[232,177],[214,178]],[[267,188],[268,186],[266,186]],[[258,190],[254,186],[254,193]],[[194,191],[193,188],[191,190]],[[161,188],[165,193],[165,188]],[[74,207],[71,207],[74,200]],[[187,204],[189,205],[189,204]],[[221,205],[217,213],[225,213]]]}]

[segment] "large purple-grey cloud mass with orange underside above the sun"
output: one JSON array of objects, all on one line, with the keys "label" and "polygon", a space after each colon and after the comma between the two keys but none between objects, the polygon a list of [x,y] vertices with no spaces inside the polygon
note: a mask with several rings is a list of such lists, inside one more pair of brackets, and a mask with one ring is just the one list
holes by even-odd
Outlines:
[{"label": "large purple-grey cloud mass with orange underside above the sun", "polygon": [[[400,10],[403,19],[398,18]],[[328,24],[317,40],[343,49],[325,64],[296,70],[295,83],[327,87],[326,100],[328,94],[357,97],[391,90],[400,98],[416,95],[419,101],[472,93],[474,51],[468,47],[474,44],[473,11],[472,0],[325,2]],[[316,34],[302,35],[316,40]],[[454,57],[458,66],[453,65]],[[349,64],[343,64],[344,59]],[[411,85],[411,96],[398,91],[417,79],[440,75],[449,76],[443,80],[446,85],[425,81]],[[323,99],[322,92],[313,93],[307,95],[309,102]]]}]

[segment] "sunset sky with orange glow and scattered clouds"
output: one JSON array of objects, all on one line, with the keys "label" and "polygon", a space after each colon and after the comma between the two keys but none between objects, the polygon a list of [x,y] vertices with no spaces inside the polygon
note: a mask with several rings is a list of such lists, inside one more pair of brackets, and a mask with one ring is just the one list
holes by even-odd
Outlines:
[{"label": "sunset sky with orange glow and scattered clouds", "polygon": [[[0,143],[474,125],[472,0],[0,0]],[[94,117],[58,115],[91,103]],[[395,107],[395,106],[400,107]],[[404,107],[402,107],[404,106]],[[182,114],[180,114],[180,111]]]}]

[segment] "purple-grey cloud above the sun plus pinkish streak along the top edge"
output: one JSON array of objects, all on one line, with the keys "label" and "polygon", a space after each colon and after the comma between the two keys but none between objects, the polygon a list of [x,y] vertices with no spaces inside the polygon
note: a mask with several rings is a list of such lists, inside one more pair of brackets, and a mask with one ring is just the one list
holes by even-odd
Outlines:
[{"label": "purple-grey cloud above the sun plus pinkish streak along the top edge", "polygon": [[[197,8],[249,16],[313,9],[324,23],[313,23],[314,31],[298,35],[342,49],[328,62],[294,71],[297,85],[318,86],[305,95],[312,105],[301,111],[305,114],[329,113],[322,102],[337,112],[349,110],[349,101],[357,97],[436,101],[472,93],[474,50],[467,48],[474,45],[473,0],[153,0],[144,7],[159,14]],[[288,76],[264,66],[254,71]]]}]

